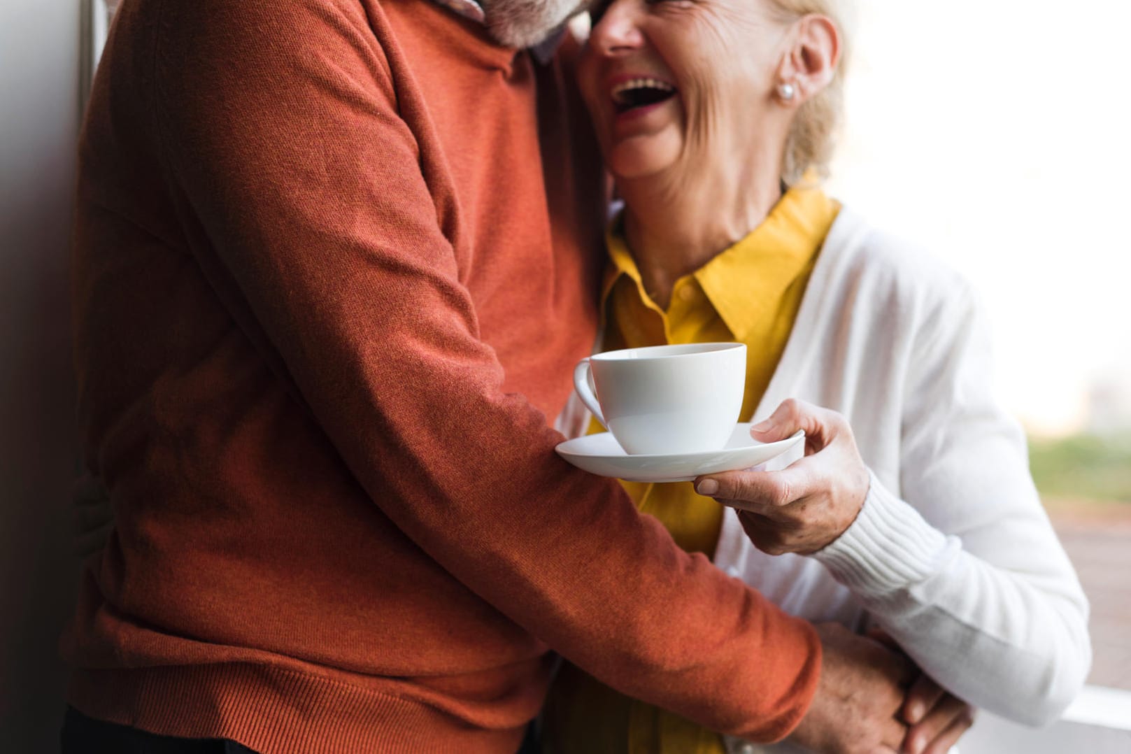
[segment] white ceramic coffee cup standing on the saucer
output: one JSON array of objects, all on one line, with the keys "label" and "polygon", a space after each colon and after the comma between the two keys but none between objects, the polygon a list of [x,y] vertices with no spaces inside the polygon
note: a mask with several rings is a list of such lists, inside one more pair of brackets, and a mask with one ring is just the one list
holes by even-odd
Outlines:
[{"label": "white ceramic coffee cup standing on the saucer", "polygon": [[741,343],[610,350],[573,370],[581,401],[632,454],[719,450],[739,421],[745,382]]}]

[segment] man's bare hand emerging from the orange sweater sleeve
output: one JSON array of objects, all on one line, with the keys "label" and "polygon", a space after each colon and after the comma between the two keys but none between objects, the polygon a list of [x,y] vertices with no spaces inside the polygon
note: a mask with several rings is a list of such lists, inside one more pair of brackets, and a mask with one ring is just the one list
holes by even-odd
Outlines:
[{"label": "man's bare hand emerging from the orange sweater sleeve", "polygon": [[823,658],[813,703],[788,740],[814,752],[898,752],[907,726],[898,719],[915,666],[899,652],[837,623],[817,626]]}]

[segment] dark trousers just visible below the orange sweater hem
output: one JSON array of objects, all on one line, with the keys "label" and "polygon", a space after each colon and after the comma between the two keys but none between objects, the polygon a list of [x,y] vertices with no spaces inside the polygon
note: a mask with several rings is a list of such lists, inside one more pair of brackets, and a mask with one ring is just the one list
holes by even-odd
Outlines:
[{"label": "dark trousers just visible below the orange sweater hem", "polygon": [[62,754],[256,754],[234,740],[174,738],[88,718],[67,708]]}]

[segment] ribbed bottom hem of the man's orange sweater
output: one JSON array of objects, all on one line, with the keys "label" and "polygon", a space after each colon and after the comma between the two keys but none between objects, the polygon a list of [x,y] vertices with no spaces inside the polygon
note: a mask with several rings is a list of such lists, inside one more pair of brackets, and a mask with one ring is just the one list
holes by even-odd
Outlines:
[{"label": "ribbed bottom hem of the man's orange sweater", "polygon": [[473,728],[418,701],[251,664],[76,670],[68,703],[164,736],[227,738],[260,754],[510,754],[524,728]]}]

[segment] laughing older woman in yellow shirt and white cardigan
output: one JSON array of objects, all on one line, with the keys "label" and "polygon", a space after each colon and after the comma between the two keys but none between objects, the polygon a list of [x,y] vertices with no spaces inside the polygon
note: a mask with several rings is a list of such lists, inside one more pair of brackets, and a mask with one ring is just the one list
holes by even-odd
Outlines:
[{"label": "laughing older woman in yellow shirt and white cardigan", "polygon": [[[1055,718],[1090,664],[1088,608],[1024,436],[990,395],[967,285],[818,185],[844,71],[835,11],[595,9],[579,78],[624,199],[607,235],[603,347],[748,345],[741,418],[763,419],[762,441],[803,428],[804,458],[694,487],[625,486],[683,547],[787,610],[882,630],[925,674],[905,748],[941,752],[968,727],[966,703]],[[926,691],[930,678],[952,695]],[[547,751],[725,746],[569,666],[545,726]]]}]

